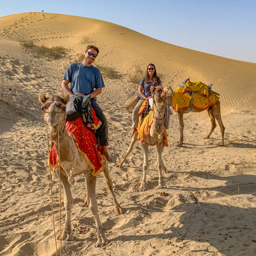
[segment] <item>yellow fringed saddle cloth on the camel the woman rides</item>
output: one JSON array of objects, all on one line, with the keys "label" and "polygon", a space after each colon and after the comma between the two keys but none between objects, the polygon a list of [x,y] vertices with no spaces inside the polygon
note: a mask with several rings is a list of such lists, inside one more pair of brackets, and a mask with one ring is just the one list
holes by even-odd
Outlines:
[{"label": "yellow fringed saddle cloth on the camel the woman rides", "polygon": [[[142,110],[144,108],[144,106],[145,106],[145,102],[143,102],[140,110]],[[138,138],[137,139],[140,140],[141,143],[146,138],[146,136],[149,134],[151,125],[153,123],[153,117],[154,117],[153,110],[150,110],[148,112],[148,114],[142,119],[142,122],[141,122],[141,116],[139,117]],[[166,133],[165,127],[163,130],[163,136],[164,136],[164,146],[168,146],[167,133]]]}]

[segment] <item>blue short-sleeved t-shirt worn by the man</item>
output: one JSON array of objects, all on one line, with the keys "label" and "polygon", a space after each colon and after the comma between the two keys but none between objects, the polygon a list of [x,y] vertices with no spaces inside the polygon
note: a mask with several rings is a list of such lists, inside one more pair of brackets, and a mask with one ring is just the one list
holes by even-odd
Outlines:
[{"label": "blue short-sleeved t-shirt worn by the man", "polygon": [[73,94],[79,92],[87,95],[94,89],[105,87],[98,68],[92,65],[87,67],[82,62],[70,64],[63,79],[71,83],[70,90]]}]

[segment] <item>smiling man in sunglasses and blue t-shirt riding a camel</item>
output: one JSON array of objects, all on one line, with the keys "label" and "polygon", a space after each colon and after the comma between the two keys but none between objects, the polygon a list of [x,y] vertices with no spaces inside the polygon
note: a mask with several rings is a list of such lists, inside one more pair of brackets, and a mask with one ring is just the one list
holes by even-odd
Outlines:
[{"label": "smiling man in sunglasses and blue t-shirt riding a camel", "polygon": [[[90,96],[91,106],[93,107],[96,116],[102,123],[96,130],[99,145],[102,147],[101,154],[112,162],[107,151],[108,144],[108,123],[103,111],[97,103],[97,96],[101,94],[102,88],[105,87],[102,75],[98,68],[94,67],[92,63],[98,56],[99,49],[94,45],[88,45],[85,50],[85,59],[82,62],[71,63],[62,80],[61,88],[63,91],[71,96],[71,100],[75,95]],[[71,83],[70,88],[68,87]]]}]

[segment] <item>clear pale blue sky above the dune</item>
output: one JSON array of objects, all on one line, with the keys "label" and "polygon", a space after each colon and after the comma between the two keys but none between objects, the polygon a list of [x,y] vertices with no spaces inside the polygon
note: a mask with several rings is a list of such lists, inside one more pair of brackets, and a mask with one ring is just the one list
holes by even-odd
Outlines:
[{"label": "clear pale blue sky above the dune", "polygon": [[256,62],[256,0],[6,0],[0,17],[41,10],[108,21],[177,46]]}]

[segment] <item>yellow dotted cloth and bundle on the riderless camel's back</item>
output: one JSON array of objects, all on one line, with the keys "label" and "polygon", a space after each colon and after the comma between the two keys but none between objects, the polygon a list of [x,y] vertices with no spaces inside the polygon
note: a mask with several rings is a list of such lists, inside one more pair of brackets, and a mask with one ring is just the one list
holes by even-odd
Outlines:
[{"label": "yellow dotted cloth and bundle on the riderless camel's back", "polygon": [[[188,95],[186,91],[193,92],[192,95]],[[190,82],[187,79],[186,83],[182,87],[178,87],[174,90],[172,95],[172,108],[174,111],[188,109],[194,107],[199,110],[207,110],[209,107],[214,106],[219,97],[216,94],[208,93],[208,86],[204,83]]]}]

